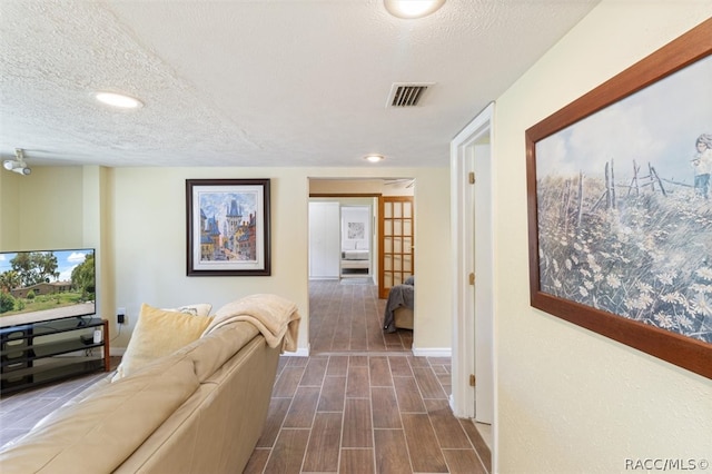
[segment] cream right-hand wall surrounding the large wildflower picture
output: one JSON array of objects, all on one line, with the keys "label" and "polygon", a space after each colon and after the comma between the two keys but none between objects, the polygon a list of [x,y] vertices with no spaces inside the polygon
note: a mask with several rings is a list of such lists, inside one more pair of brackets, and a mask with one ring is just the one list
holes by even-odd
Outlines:
[{"label": "cream right-hand wall surrounding the large wildflower picture", "polygon": [[526,128],[710,14],[710,1],[603,1],[496,101],[502,473],[611,473],[624,472],[626,458],[710,460],[712,381],[530,306],[524,150]]}]

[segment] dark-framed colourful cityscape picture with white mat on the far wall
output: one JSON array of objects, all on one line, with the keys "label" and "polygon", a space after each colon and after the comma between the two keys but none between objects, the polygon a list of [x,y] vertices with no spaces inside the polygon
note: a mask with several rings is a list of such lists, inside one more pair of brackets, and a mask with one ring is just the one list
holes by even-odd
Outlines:
[{"label": "dark-framed colourful cityscape picture with white mat on the far wall", "polygon": [[187,275],[269,276],[269,179],[186,179]]}]

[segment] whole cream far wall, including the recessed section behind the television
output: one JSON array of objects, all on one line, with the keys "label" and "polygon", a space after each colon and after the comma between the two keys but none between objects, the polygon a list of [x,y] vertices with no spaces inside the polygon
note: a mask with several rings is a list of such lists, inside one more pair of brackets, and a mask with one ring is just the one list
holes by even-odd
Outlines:
[{"label": "whole cream far wall, including the recessed section behind the television", "polygon": [[[299,348],[306,349],[309,178],[403,174],[418,179],[416,241],[424,249],[415,263],[425,289],[416,296],[418,323],[414,346],[424,350],[449,348],[449,250],[443,247],[448,239],[442,238],[449,228],[447,168],[36,167],[29,177],[18,175],[19,179],[10,185],[0,182],[2,233],[9,235],[0,241],[0,248],[96,247],[99,305],[101,315],[112,323],[115,348],[128,344],[141,303],[159,307],[211,303],[217,309],[241,296],[275,293],[297,303],[305,316]],[[186,276],[185,182],[216,177],[271,180],[271,276]],[[7,189],[21,190],[26,210],[20,216],[6,200]],[[11,223],[7,228],[6,215]],[[126,308],[129,320],[120,334],[113,325],[119,306]]]}]

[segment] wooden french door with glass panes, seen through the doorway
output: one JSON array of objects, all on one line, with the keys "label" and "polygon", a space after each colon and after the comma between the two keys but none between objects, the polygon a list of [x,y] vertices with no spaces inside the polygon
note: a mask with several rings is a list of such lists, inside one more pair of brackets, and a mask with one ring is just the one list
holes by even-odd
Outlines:
[{"label": "wooden french door with glass panes, seen through the doorway", "polygon": [[412,196],[382,196],[378,199],[378,297],[413,275],[415,259],[414,209]]}]

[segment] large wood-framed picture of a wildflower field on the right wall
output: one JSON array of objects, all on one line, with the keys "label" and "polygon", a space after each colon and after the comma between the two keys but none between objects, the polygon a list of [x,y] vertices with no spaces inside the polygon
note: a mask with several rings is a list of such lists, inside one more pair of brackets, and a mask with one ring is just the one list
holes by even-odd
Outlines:
[{"label": "large wood-framed picture of a wildflower field on the right wall", "polygon": [[708,378],[711,55],[708,19],[525,132],[531,305]]}]

